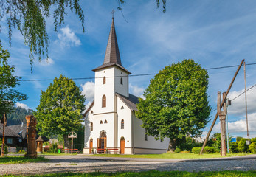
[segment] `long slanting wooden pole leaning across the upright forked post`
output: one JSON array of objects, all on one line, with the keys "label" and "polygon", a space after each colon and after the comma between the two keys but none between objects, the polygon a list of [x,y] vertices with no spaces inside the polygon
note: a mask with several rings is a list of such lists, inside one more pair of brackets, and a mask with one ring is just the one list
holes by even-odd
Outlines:
[{"label": "long slanting wooden pole leaning across the upright forked post", "polygon": [[[241,61],[240,65],[238,66],[238,69],[237,69],[236,72],[235,72],[235,75],[234,75],[234,77],[233,77],[231,83],[229,84],[229,88],[228,88],[227,91],[226,91],[226,96],[229,94],[229,90],[231,89],[231,87],[232,87],[232,85],[233,85],[233,83],[234,83],[234,81],[235,81],[235,77],[238,75],[238,72],[239,72],[239,70],[241,69],[241,66],[243,65],[243,62],[244,62],[244,59]],[[222,105],[224,104],[224,102],[223,102],[224,100],[226,100],[226,97],[224,97],[223,100],[222,100],[221,108],[222,108]],[[217,118],[218,118],[218,113],[216,113],[215,118],[213,119],[212,125],[211,125],[211,127],[210,127],[210,130],[209,130],[208,133],[207,133],[207,137],[206,137],[205,140],[204,140],[204,145],[203,145],[203,147],[201,148],[200,154],[203,153],[204,147],[205,147],[205,145],[207,145],[207,141],[208,141],[208,139],[209,139],[210,133],[212,132],[212,128],[214,127]]]}]

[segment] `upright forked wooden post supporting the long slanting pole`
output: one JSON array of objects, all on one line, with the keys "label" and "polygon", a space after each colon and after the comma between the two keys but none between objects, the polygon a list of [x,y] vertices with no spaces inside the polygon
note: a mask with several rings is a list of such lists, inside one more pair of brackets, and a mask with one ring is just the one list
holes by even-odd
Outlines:
[{"label": "upright forked wooden post supporting the long slanting pole", "polygon": [[217,113],[221,121],[221,156],[226,156],[226,92],[222,94],[224,105],[221,111],[221,92],[218,91]]}]

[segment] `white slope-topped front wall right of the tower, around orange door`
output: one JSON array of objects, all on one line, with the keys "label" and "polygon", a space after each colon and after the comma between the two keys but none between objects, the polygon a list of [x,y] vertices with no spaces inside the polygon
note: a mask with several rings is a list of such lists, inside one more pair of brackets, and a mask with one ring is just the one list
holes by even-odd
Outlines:
[{"label": "white slope-topped front wall right of the tower, around orange door", "polygon": [[[123,107],[123,109],[121,109]],[[124,119],[124,129],[121,129],[121,121]],[[118,136],[117,136],[117,145],[120,147],[120,139],[123,136],[125,138],[125,148],[132,147],[131,139],[131,109],[128,108],[125,103],[117,97],[117,122],[118,122]],[[126,153],[126,149],[125,149]]]}]

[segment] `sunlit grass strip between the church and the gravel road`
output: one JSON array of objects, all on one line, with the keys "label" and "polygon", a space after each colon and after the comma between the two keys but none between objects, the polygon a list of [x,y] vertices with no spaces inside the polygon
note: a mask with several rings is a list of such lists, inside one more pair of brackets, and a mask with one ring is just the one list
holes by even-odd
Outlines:
[{"label": "sunlit grass strip between the church and the gravel road", "polygon": [[[226,157],[246,156],[248,153],[228,153]],[[153,158],[153,159],[204,159],[204,158],[225,158],[220,153],[204,153],[202,155],[195,153],[162,153],[162,154],[138,154],[138,155],[120,155],[120,154],[95,154],[90,156],[103,157],[122,157],[122,158]]]}]

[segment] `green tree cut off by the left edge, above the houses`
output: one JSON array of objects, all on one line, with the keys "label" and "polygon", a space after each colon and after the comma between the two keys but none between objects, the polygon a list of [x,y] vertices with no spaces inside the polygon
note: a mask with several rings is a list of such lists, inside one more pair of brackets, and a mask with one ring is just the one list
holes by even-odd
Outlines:
[{"label": "green tree cut off by the left edge, above the houses", "polygon": [[0,42],[0,114],[8,113],[17,101],[27,100],[27,95],[15,90],[21,77],[13,75],[15,66],[10,66],[7,59],[9,52],[2,48]]}]

